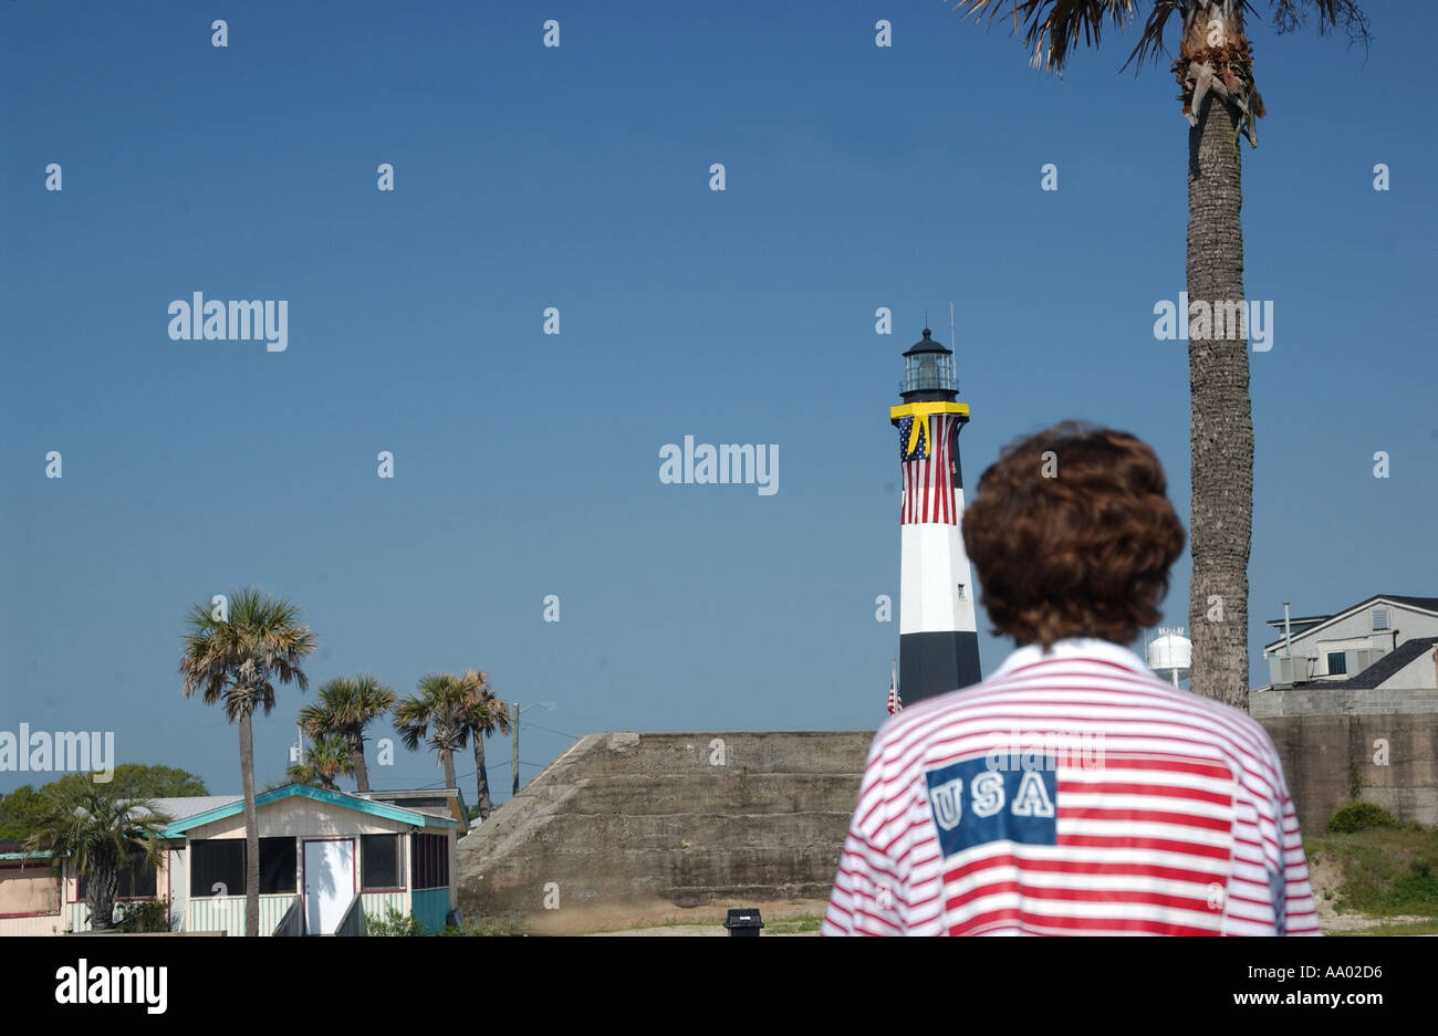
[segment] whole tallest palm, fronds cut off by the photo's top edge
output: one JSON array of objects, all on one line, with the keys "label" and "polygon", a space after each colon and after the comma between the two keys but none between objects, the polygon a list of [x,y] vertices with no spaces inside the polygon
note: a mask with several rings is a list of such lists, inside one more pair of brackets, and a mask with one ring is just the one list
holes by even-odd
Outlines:
[{"label": "whole tallest palm, fronds cut off by the photo's top edge", "polygon": [[[1139,0],[959,0],[963,14],[992,22],[1011,11],[1014,32],[1025,27],[1032,63],[1063,72],[1080,39],[1097,45],[1104,23],[1123,29]],[[1350,40],[1368,43],[1368,17],[1353,0],[1270,0],[1274,27],[1303,24],[1309,10],[1319,33],[1342,24]],[[1163,49],[1163,30],[1179,20],[1173,73],[1182,89],[1188,134],[1188,297],[1209,313],[1234,315],[1244,299],[1244,237],[1238,135],[1258,145],[1264,114],[1254,89],[1252,56],[1244,34],[1247,0],[1153,0],[1129,63]],[[1257,13],[1257,11],[1254,11]],[[1127,65],[1126,65],[1127,66]],[[1125,66],[1125,68],[1126,68]],[[1232,316],[1229,316],[1232,320]],[[1248,397],[1247,325],[1237,333],[1195,320],[1188,342],[1192,422],[1192,514],[1189,542],[1189,634],[1192,688],[1238,708],[1248,707],[1248,553],[1252,535],[1252,404]]]}]

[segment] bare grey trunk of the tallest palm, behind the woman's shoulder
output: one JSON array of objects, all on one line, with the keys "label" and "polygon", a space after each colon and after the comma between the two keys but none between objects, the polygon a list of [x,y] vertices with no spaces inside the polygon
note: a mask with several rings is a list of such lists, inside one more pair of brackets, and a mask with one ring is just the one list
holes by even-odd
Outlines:
[{"label": "bare grey trunk of the tallest palm, behind the woman's shoulder", "polygon": [[[1209,93],[1188,135],[1189,305],[1244,299],[1242,181],[1237,119]],[[1211,332],[1217,333],[1217,320]],[[1192,690],[1248,708],[1248,550],[1252,532],[1252,404],[1245,336],[1188,342],[1194,497],[1189,535]]]}]

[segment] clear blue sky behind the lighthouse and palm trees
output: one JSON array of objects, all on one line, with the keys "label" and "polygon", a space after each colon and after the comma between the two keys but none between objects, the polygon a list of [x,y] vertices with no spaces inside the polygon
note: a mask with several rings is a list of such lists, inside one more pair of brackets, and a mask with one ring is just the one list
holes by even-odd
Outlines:
[{"label": "clear blue sky behind the lighthouse and palm trees", "polygon": [[[1276,313],[1251,355],[1255,660],[1284,599],[1438,593],[1435,29],[1375,7],[1365,59],[1250,26],[1245,287]],[[1119,72],[1132,39],[1058,80],[942,3],[7,0],[0,729],[114,730],[121,762],[239,790],[234,729],[175,667],[186,606],[243,585],[303,606],[312,687],[479,667],[548,703],[523,779],[594,730],[877,726],[887,408],[926,309],[949,342],[956,307],[971,484],[1078,417],[1153,443],[1188,522],[1186,348],[1153,336],[1183,290],[1188,126],[1166,60]],[[288,349],[171,341],[193,292],[288,300]],[[660,484],[684,435],[778,444],[779,491]],[[1186,581],[1185,558],[1172,624]],[[981,626],[989,671],[1007,645]],[[312,697],[256,723],[260,782]],[[490,759],[503,799],[508,744]],[[440,780],[403,750],[372,776]]]}]

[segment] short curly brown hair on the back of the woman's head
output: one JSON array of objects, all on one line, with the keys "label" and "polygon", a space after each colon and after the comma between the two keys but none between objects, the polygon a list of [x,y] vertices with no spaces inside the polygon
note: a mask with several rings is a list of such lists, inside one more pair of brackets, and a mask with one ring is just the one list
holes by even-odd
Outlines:
[{"label": "short curly brown hair on the back of the woman's head", "polygon": [[1163,466],[1125,431],[1066,421],[1014,443],[979,478],[963,543],[995,634],[1132,644],[1158,624],[1183,526]]}]

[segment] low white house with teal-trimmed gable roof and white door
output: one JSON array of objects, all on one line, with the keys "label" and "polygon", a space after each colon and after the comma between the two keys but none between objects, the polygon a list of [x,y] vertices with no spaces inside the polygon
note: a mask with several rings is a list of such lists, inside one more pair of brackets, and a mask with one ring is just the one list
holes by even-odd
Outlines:
[{"label": "low white house with teal-trimmed gable roof and white door", "polygon": [[[354,793],[288,785],[255,805],[260,934],[361,934],[365,918],[390,908],[437,933],[454,910],[454,846],[467,831],[457,789]],[[155,806],[170,818],[164,864],[125,875],[116,918],[129,904],[165,898],[174,931],[243,935],[243,799],[157,799]],[[85,931],[88,912],[68,861],[56,874],[49,859],[0,854],[0,935]]]}]

